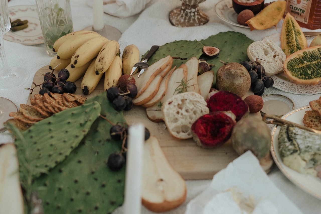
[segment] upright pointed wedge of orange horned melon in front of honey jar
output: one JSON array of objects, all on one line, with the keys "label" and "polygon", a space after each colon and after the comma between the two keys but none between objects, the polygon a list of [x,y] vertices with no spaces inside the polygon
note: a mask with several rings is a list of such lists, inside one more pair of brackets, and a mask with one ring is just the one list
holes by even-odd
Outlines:
[{"label": "upright pointed wedge of orange horned melon in front of honey jar", "polygon": [[306,37],[290,13],[283,20],[280,39],[281,48],[287,56],[308,47]]}]

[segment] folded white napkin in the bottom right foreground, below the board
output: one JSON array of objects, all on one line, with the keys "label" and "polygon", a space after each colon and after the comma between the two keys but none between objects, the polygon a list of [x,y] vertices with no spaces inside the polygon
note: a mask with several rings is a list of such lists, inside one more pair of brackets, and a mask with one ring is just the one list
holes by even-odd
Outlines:
[{"label": "folded white napkin in the bottom right foreground, below the board", "polygon": [[[233,192],[231,189],[236,192],[233,197],[238,194],[238,200],[242,200],[242,194],[243,198],[248,198],[247,204],[253,203],[253,213],[301,214],[295,204],[273,184],[251,151],[245,152],[215,174],[210,186],[187,204],[185,214],[242,213],[231,210],[213,212],[218,209],[213,207],[213,203],[226,204],[229,200],[231,206],[224,209],[237,210],[238,207],[232,203],[233,199],[226,194]],[[222,206],[220,208],[223,209]]]}]

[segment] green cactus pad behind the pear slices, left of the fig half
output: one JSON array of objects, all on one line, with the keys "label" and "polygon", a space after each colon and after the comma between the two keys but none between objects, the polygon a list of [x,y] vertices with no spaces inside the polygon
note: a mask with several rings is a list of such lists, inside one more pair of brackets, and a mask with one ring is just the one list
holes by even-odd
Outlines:
[{"label": "green cactus pad behind the pear slices, left of the fig half", "polygon": [[[164,58],[168,55],[170,55],[171,57],[187,58],[186,60],[173,60],[173,67],[176,66],[176,68],[178,68],[181,64],[184,64],[193,56],[199,58],[199,56],[201,56],[203,53],[202,48],[203,44],[196,40],[179,40],[166,43],[165,45],[162,45],[158,48],[156,53],[153,54],[152,57],[148,60],[148,64],[151,65],[152,63],[157,62],[161,58]],[[142,59],[146,54],[142,56]]]}]

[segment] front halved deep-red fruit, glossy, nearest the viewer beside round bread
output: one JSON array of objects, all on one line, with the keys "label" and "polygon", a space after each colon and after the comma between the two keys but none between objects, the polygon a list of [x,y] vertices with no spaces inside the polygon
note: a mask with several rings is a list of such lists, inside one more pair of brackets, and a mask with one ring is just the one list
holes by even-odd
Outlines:
[{"label": "front halved deep-red fruit, glossy, nearest the viewer beside round bread", "polygon": [[193,139],[203,148],[220,146],[230,139],[235,124],[235,115],[231,111],[210,112],[193,123]]}]

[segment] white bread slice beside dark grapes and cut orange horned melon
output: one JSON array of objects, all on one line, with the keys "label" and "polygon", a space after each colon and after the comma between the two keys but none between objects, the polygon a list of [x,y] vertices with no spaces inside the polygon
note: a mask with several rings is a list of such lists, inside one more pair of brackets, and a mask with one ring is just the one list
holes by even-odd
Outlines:
[{"label": "white bread slice beside dark grapes and cut orange horned melon", "polygon": [[252,62],[258,58],[257,61],[263,65],[266,76],[283,72],[286,55],[278,45],[275,45],[269,39],[250,44],[247,47],[247,56]]}]

